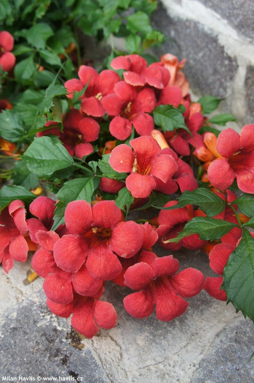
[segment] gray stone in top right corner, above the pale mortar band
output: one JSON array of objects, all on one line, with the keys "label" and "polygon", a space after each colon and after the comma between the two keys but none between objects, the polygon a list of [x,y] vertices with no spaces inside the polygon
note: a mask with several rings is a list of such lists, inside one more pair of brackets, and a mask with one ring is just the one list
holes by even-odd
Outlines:
[{"label": "gray stone in top right corner, above the pale mortar band", "polygon": [[241,34],[254,39],[253,0],[199,0],[228,20]]}]

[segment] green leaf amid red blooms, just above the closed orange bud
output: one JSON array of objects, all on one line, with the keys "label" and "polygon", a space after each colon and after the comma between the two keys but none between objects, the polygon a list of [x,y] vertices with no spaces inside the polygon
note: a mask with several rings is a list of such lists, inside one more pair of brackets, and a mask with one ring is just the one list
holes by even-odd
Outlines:
[{"label": "green leaf amid red blooms, just above the closed orange bud", "polygon": [[181,110],[174,108],[172,105],[157,106],[153,111],[153,117],[155,124],[160,126],[164,132],[182,128],[191,134],[185,125]]}]

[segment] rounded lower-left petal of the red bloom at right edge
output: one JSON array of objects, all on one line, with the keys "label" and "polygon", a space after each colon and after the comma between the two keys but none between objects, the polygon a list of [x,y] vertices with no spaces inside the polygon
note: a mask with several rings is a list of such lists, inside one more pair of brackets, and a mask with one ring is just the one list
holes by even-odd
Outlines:
[{"label": "rounded lower-left petal of the red bloom at right edge", "polygon": [[222,158],[217,158],[212,162],[207,174],[211,184],[220,190],[228,189],[236,177],[228,161]]}]

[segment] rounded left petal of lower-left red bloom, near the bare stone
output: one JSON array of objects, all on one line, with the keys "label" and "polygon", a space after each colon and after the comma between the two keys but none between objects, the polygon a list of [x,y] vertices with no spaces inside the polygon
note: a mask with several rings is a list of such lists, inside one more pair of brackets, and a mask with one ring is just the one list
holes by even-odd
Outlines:
[{"label": "rounded left petal of lower-left red bloom, near the bare stone", "polygon": [[32,257],[32,268],[39,276],[46,278],[56,267],[53,253],[43,248],[37,250]]}]

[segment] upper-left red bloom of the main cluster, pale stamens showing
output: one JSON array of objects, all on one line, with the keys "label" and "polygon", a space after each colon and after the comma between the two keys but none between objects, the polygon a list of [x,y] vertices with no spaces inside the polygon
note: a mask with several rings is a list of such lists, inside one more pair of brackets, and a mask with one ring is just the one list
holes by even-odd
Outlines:
[{"label": "upper-left red bloom of the main cluster, pale stamens showing", "polygon": [[[67,92],[81,91],[89,81],[88,87],[82,97],[81,110],[87,116],[103,117],[105,114],[101,100],[107,94],[114,92],[115,84],[120,81],[114,70],[103,70],[100,74],[91,66],[81,65],[78,71],[80,79],[73,78],[65,82]],[[73,98],[73,94],[67,97]]]}]

